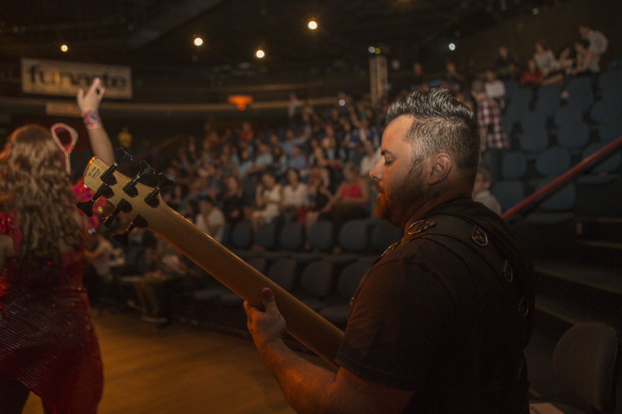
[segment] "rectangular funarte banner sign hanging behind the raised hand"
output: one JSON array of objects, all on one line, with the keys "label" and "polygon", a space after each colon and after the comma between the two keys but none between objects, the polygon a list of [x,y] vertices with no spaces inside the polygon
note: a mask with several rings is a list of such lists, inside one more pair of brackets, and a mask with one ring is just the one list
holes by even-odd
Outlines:
[{"label": "rectangular funarte banner sign hanging behind the raised hand", "polygon": [[75,96],[100,78],[106,98],[132,98],[132,71],[128,66],[60,62],[22,58],[22,91],[45,95]]}]

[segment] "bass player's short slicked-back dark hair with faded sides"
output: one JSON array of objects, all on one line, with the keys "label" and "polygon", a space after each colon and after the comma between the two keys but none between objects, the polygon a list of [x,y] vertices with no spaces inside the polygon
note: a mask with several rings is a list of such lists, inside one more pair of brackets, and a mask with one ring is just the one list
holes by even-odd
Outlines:
[{"label": "bass player's short slicked-back dark hair with faded sides", "polygon": [[414,117],[404,139],[418,149],[420,159],[447,152],[463,177],[472,185],[480,163],[480,133],[473,111],[447,90],[414,91],[395,101],[387,114],[387,124],[399,116]]}]

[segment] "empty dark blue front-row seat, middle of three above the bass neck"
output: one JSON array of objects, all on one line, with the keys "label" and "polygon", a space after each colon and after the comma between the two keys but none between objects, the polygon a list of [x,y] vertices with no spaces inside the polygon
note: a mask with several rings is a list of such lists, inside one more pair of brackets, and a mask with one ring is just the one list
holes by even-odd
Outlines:
[{"label": "empty dark blue front-row seat, middle of three above the bass neck", "polygon": [[325,308],[333,286],[333,271],[332,263],[326,260],[311,262],[300,275],[301,290],[295,296],[316,312]]}]

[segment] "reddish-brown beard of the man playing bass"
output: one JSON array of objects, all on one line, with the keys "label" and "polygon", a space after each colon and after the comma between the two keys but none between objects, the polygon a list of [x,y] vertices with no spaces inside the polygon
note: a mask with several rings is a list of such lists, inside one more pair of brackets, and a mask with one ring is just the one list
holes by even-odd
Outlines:
[{"label": "reddish-brown beard of the man playing bass", "polygon": [[397,182],[395,188],[381,188],[375,184],[378,190],[376,198],[376,216],[388,221],[393,226],[402,228],[415,209],[421,203],[424,195],[424,184],[421,180],[423,166],[417,163],[412,166],[409,173]]}]

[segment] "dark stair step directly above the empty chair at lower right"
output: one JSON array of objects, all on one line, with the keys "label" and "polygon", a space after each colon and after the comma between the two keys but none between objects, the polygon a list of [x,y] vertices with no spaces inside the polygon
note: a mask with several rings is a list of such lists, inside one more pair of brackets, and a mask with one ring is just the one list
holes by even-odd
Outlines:
[{"label": "dark stair step directly above the empty chair at lower right", "polygon": [[536,310],[570,325],[590,321],[604,322],[610,326],[618,325],[615,318],[611,316],[577,305],[577,303],[564,300],[564,298],[552,297],[542,293],[536,295]]}]

